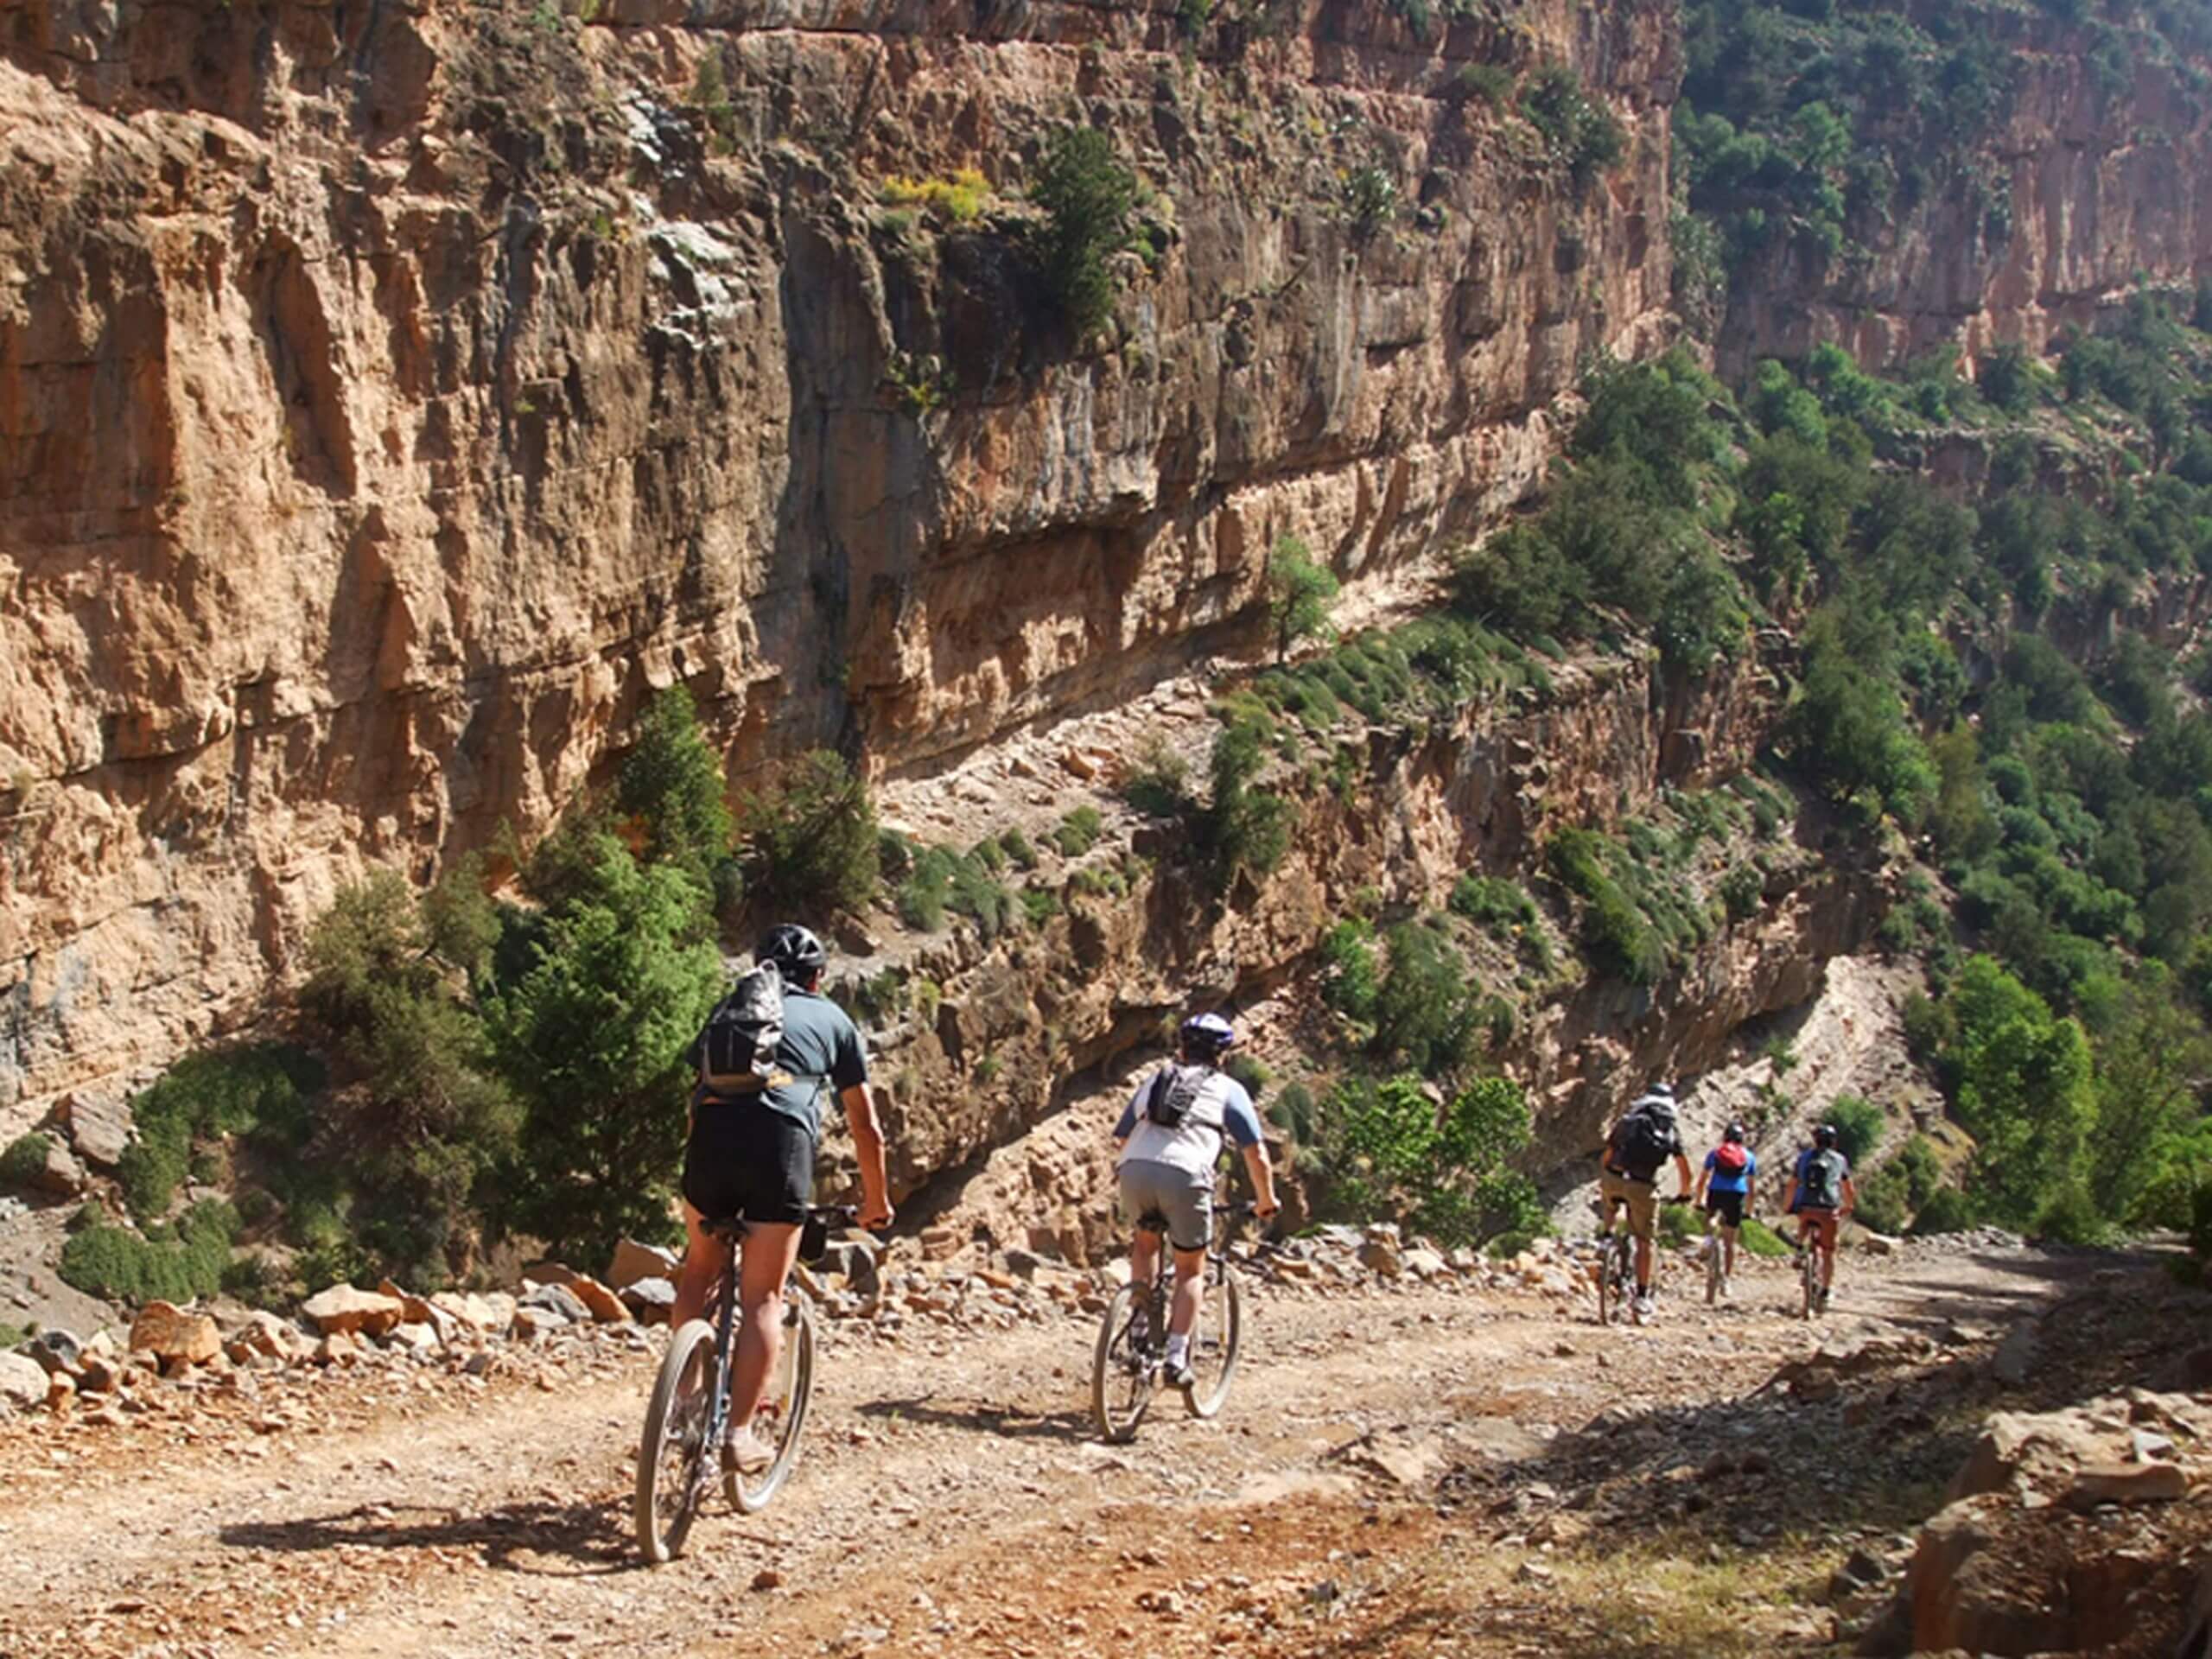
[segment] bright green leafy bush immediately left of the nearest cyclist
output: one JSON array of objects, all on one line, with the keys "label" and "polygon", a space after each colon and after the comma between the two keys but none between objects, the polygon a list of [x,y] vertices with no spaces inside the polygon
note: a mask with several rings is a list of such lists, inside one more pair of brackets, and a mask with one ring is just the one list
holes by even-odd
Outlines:
[{"label": "bright green leafy bush immediately left of the nearest cyclist", "polygon": [[668,1230],[684,1053],[721,989],[701,887],[599,836],[588,887],[544,918],[526,969],[489,1009],[522,1102],[520,1152],[498,1192],[509,1228],[586,1261],[624,1234]]}]

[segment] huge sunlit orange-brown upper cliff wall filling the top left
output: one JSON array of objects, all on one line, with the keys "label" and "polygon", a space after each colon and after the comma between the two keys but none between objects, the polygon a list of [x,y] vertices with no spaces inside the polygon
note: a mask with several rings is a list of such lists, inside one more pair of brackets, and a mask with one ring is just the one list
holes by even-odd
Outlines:
[{"label": "huge sunlit orange-brown upper cliff wall filling the top left", "polygon": [[[1281,533],[1478,529],[1668,330],[1659,4],[582,11],[0,15],[0,1128],[653,686],[741,774],[925,772],[1245,648]],[[1458,77],[1542,58],[1628,128],[1588,190]],[[1071,119],[1157,190],[1097,341],[1018,239]],[[1002,217],[880,204],[962,166]]]}]

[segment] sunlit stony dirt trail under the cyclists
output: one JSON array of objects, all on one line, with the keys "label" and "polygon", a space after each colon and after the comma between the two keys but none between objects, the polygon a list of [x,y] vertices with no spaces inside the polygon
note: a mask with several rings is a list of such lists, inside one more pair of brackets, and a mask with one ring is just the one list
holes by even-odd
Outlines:
[{"label": "sunlit stony dirt trail under the cyclists", "polygon": [[[1073,1659],[1139,1632],[1152,1652],[1334,1652],[1340,1608],[1316,1604],[1303,1632],[1270,1608],[1400,1544],[1449,1548],[1455,1522],[1413,1502],[1436,1475],[1564,1484],[1553,1447],[1606,1407],[1750,1396],[1867,1316],[1995,1338],[2095,1267],[1854,1259],[1849,1312],[1807,1329],[1763,1265],[1732,1307],[1677,1301],[1655,1329],[1604,1336],[1533,1292],[1256,1287],[1223,1420],[1166,1400],[1126,1449],[1091,1433],[1091,1332],[1073,1318],[898,1338],[830,1325],[785,1498],[710,1513],[657,1571],[628,1540],[650,1352],[553,1391],[478,1398],[440,1378],[319,1431],[190,1444],[179,1429],[157,1455],[55,1451],[20,1422],[0,1431],[0,1655],[706,1655],[743,1637]],[[754,1588],[763,1568],[779,1584]]]}]

